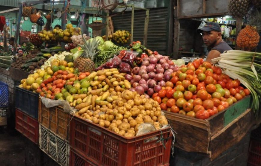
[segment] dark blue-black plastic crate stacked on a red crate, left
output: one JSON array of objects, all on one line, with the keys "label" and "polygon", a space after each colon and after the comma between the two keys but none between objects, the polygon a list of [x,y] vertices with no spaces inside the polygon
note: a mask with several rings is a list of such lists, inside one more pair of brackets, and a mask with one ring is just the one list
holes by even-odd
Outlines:
[{"label": "dark blue-black plastic crate stacked on a red crate, left", "polygon": [[39,95],[16,86],[15,96],[15,107],[33,118],[38,119]]}]

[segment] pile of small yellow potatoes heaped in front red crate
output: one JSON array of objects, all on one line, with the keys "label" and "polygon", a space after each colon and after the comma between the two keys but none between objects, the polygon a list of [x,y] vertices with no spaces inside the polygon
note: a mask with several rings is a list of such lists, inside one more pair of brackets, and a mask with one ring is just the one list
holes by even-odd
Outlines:
[{"label": "pile of small yellow potatoes heaped in front red crate", "polygon": [[143,123],[151,123],[157,130],[168,124],[159,103],[137,92],[109,88],[100,96],[89,94],[84,100],[75,107],[79,110],[75,115],[125,137],[134,137]]}]

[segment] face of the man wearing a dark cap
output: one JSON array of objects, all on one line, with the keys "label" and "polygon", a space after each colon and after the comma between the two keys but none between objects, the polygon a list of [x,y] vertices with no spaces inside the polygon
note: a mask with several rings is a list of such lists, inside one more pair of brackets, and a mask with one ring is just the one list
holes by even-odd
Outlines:
[{"label": "face of the man wearing a dark cap", "polygon": [[220,39],[221,33],[218,31],[203,31],[202,38],[206,46],[214,46],[218,39]]}]

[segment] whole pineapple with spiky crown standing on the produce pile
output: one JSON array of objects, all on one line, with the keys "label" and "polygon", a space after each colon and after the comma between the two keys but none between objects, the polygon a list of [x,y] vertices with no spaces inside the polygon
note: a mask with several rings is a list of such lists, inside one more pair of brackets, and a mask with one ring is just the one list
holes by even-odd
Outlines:
[{"label": "whole pineapple with spiky crown standing on the produce pile", "polygon": [[93,62],[95,55],[98,54],[96,48],[100,44],[97,38],[89,39],[88,41],[83,38],[84,44],[79,45],[84,52],[74,60],[75,68],[79,69],[79,72],[92,72],[95,68],[95,63]]}]

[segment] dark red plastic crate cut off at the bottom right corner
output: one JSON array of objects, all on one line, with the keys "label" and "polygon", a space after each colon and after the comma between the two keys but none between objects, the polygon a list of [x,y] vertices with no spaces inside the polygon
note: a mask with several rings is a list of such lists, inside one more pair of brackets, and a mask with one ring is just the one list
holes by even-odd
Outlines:
[{"label": "dark red plastic crate cut off at the bottom right corner", "polygon": [[248,166],[261,165],[261,142],[260,140],[251,139],[248,151]]}]

